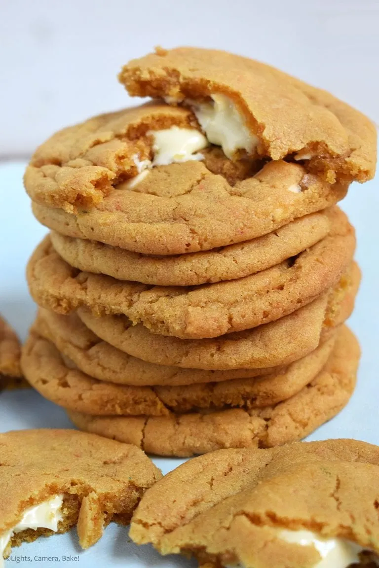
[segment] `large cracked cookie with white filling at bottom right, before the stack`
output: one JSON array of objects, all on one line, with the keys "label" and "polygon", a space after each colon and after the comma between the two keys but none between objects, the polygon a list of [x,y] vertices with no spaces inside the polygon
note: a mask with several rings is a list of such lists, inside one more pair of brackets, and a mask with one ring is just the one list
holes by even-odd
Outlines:
[{"label": "large cracked cookie with white filling at bottom right, before the stack", "polygon": [[378,474],[379,448],[357,440],[218,450],[149,489],[130,536],[208,568],[347,568],[362,548],[378,562]]}]

